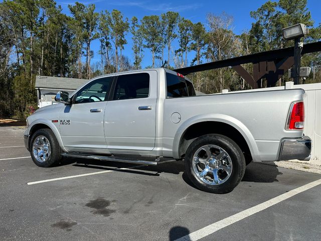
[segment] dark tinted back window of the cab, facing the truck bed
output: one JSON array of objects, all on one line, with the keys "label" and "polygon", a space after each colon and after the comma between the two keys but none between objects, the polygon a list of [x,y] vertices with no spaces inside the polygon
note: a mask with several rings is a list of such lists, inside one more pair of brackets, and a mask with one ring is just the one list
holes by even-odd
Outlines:
[{"label": "dark tinted back window of the cab, facing the truck bed", "polygon": [[185,79],[185,77],[179,73],[172,74],[166,72],[166,85],[168,98],[196,95],[192,82]]}]

